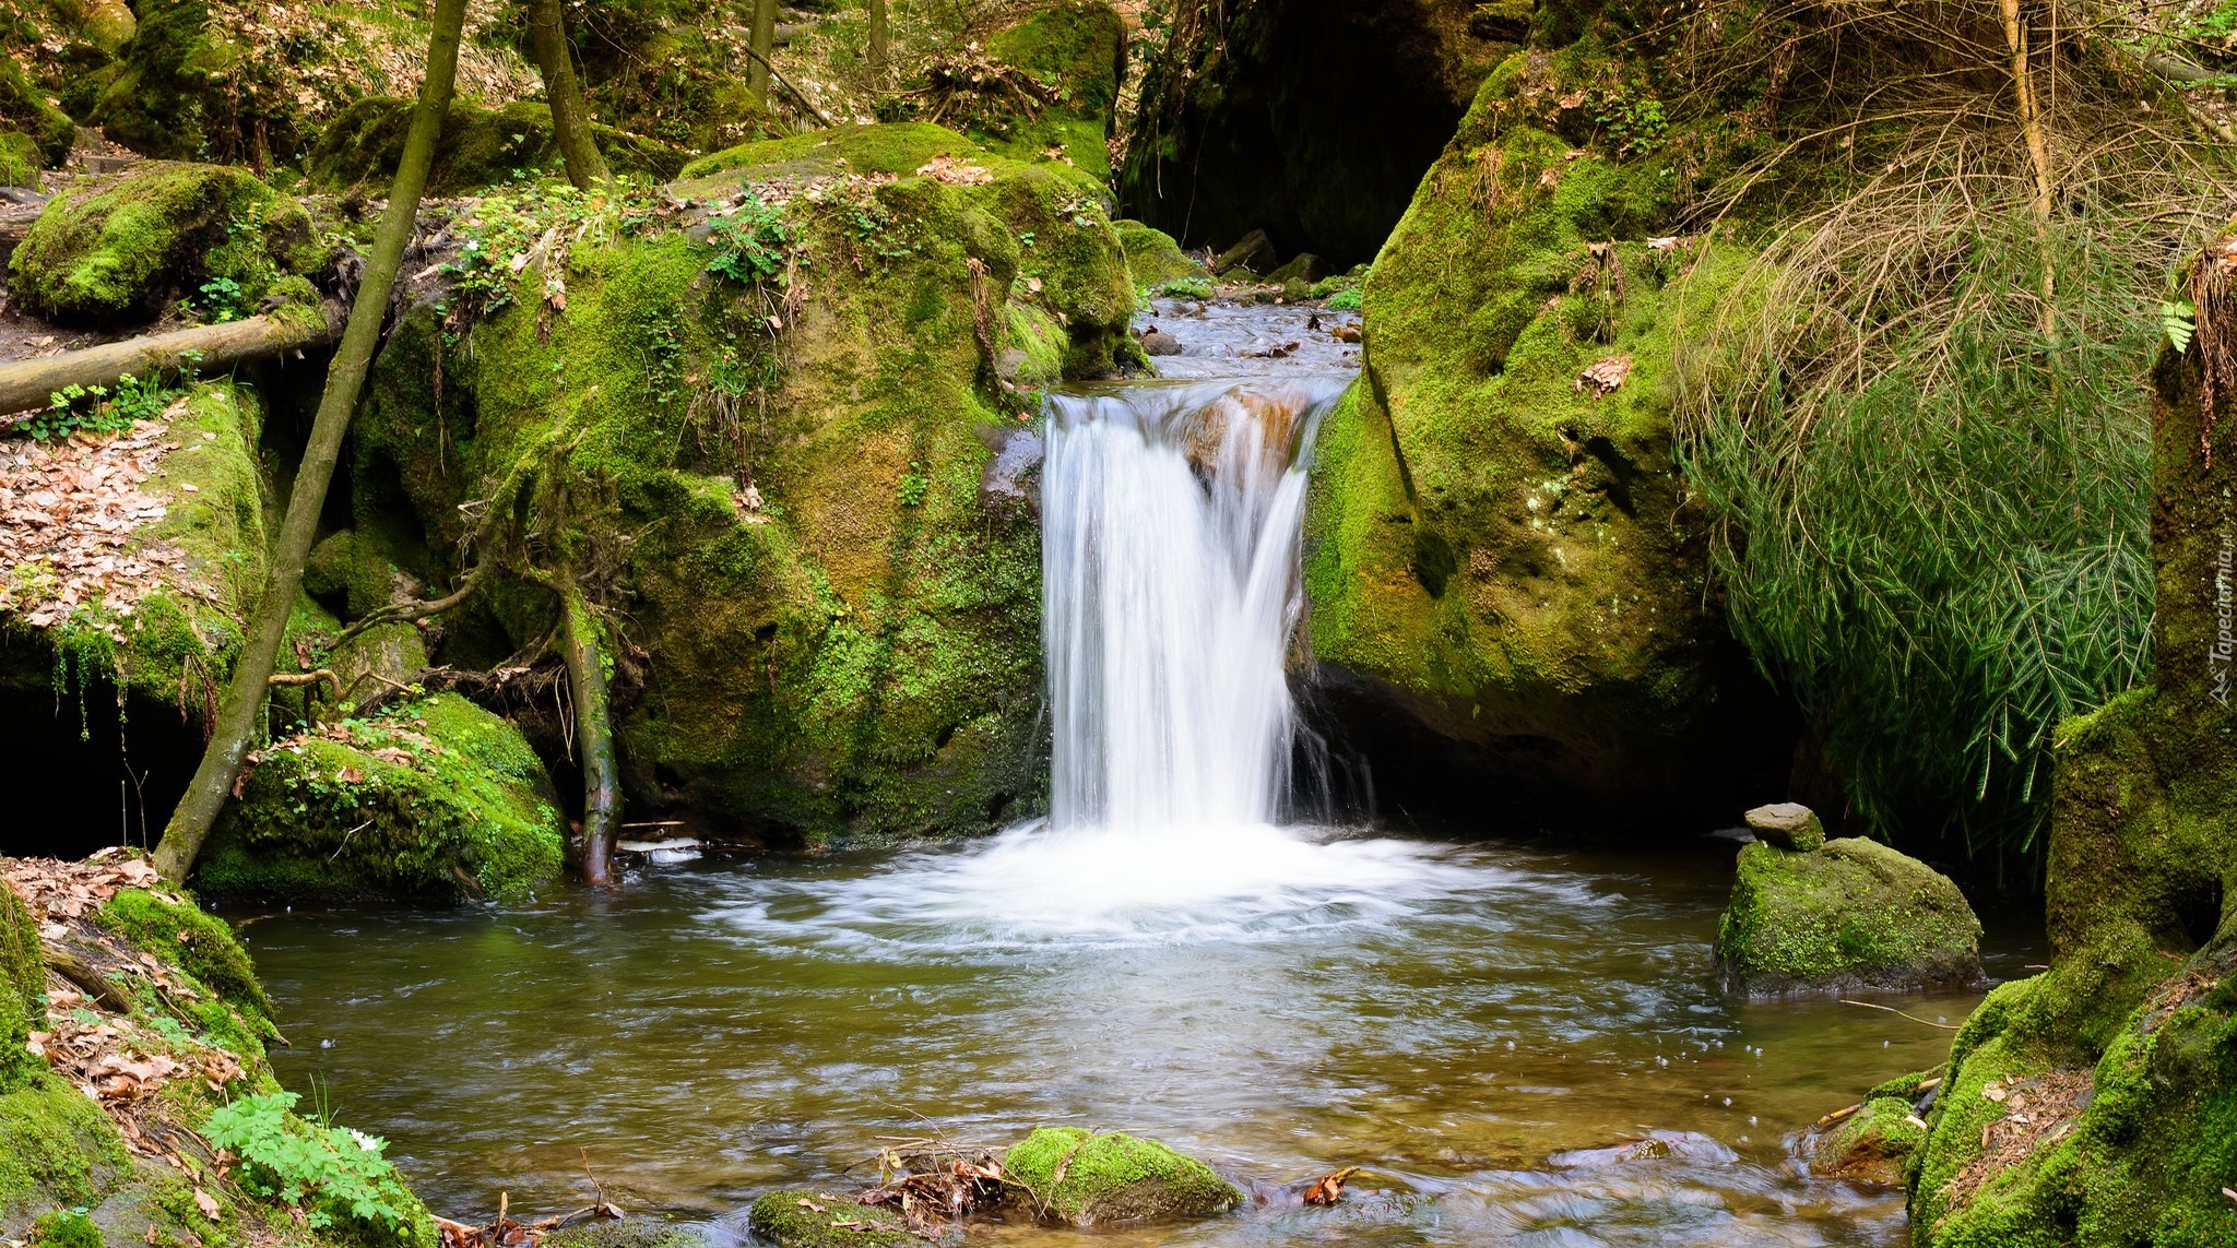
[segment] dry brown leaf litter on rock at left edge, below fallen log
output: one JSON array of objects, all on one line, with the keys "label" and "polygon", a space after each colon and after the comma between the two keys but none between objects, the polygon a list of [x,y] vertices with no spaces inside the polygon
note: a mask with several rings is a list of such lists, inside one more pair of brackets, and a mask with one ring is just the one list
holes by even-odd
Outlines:
[{"label": "dry brown leaf litter on rock at left edge, below fallen log", "polygon": [[[168,501],[141,485],[174,450],[170,427],[154,420],[54,443],[0,438],[0,613],[51,628],[81,606],[130,617],[163,586],[210,597],[177,546],[134,541],[168,514]],[[94,626],[121,637],[114,620]]]}]

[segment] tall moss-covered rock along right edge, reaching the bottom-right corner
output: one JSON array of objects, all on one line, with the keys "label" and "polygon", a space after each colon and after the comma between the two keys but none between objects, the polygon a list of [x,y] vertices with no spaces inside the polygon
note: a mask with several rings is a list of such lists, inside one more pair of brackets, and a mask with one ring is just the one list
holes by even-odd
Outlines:
[{"label": "tall moss-covered rock along right edge, reaching the bottom-right corner", "polygon": [[2159,684],[2058,731],[2051,968],[1951,1042],[1910,1185],[1922,1248],[2237,1241],[2237,456],[2226,432],[2199,454],[2199,376],[2194,351],[2154,376]]}]

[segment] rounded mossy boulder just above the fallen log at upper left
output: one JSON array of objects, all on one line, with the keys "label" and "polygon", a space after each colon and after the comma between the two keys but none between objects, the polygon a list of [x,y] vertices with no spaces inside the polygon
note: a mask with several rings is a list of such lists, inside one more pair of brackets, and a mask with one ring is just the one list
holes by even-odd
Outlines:
[{"label": "rounded mossy boulder just above the fallen log at upper left", "polygon": [[248,170],[154,161],[56,195],[9,273],[25,309],[116,327],[201,300],[208,282],[230,284],[228,306],[253,306],[329,259],[311,215]]}]

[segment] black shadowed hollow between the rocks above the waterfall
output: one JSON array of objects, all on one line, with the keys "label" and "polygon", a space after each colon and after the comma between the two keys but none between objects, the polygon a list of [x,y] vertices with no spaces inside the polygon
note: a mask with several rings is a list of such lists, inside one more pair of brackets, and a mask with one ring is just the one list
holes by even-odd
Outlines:
[{"label": "black shadowed hollow between the rocks above the waterfall", "polygon": [[1190,248],[1264,228],[1282,255],[1374,259],[1476,85],[1521,38],[1472,27],[1472,9],[1199,9],[1143,72],[1121,204]]}]

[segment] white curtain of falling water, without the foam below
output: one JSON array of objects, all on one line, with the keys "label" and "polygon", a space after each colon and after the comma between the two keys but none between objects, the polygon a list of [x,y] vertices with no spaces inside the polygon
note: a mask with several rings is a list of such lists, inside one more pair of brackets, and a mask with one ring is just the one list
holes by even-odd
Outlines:
[{"label": "white curtain of falling water, without the foam below", "polygon": [[1306,461],[1340,380],[1049,398],[1042,642],[1056,830],[1268,825]]}]

